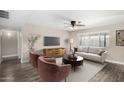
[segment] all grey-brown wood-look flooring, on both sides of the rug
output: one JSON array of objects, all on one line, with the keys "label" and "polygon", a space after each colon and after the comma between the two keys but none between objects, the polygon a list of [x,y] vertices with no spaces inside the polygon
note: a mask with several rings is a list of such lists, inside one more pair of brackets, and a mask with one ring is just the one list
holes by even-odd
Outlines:
[{"label": "all grey-brown wood-look flooring, on both sides of the rug", "polygon": [[[90,69],[90,68],[89,68]],[[0,64],[0,82],[39,82],[40,76],[30,63],[6,60]],[[108,63],[90,82],[123,82],[124,65]]]}]

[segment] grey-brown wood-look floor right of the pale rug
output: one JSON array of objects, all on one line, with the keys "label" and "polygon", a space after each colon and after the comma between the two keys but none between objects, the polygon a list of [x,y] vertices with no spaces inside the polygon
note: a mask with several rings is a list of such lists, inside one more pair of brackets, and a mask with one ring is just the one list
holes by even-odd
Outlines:
[{"label": "grey-brown wood-look floor right of the pale rug", "polygon": [[108,63],[90,82],[124,82],[124,65]]}]

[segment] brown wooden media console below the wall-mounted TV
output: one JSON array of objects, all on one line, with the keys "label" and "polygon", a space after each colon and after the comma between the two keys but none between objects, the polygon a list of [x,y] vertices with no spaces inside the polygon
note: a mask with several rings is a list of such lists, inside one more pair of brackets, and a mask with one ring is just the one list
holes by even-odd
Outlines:
[{"label": "brown wooden media console below the wall-mounted TV", "polygon": [[62,57],[65,54],[65,48],[45,48],[43,52],[46,56]]}]

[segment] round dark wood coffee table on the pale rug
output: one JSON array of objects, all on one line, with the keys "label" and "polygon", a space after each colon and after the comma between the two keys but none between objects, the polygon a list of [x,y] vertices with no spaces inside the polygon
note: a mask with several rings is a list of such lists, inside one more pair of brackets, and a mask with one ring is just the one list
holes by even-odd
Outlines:
[{"label": "round dark wood coffee table on the pale rug", "polygon": [[70,56],[69,54],[65,54],[62,58],[62,62],[64,64],[71,64],[71,66],[74,68],[74,71],[76,66],[83,65],[83,60],[84,60],[83,57],[77,56],[77,59],[73,59],[73,58],[69,58],[69,56]]}]

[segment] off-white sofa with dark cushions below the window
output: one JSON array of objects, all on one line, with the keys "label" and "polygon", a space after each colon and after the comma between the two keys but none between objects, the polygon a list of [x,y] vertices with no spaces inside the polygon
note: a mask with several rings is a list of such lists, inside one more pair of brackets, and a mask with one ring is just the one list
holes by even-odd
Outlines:
[{"label": "off-white sofa with dark cushions below the window", "polygon": [[103,63],[105,62],[107,51],[101,47],[79,46],[76,54],[82,56],[84,59]]}]

